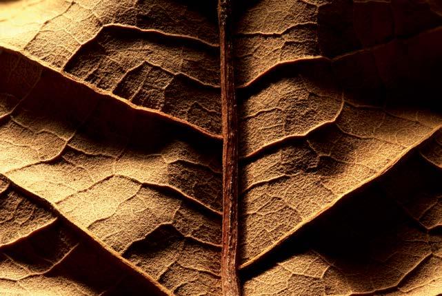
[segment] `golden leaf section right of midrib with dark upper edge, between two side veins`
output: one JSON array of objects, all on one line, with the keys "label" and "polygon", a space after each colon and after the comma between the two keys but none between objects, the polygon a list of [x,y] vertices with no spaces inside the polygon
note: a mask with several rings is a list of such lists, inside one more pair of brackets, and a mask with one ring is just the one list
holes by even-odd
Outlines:
[{"label": "golden leaf section right of midrib with dark upper edge, between two side veins", "polygon": [[[268,10],[259,9],[261,5],[245,14],[245,19],[252,12],[254,19],[266,17]],[[334,4],[324,9],[330,5]],[[413,17],[408,16],[410,21]],[[357,21],[350,25],[357,28]],[[319,30],[321,25],[314,28]],[[288,65],[276,61],[268,75],[241,89],[242,130],[247,135],[241,145],[241,209],[243,227],[248,229],[242,236],[243,266],[259,260],[336,200],[381,176],[434,134],[441,125],[434,101],[417,102],[414,96],[434,89],[433,77],[423,73],[441,59],[432,50],[423,56],[421,45],[440,40],[441,34],[440,28],[430,29],[331,60],[299,60],[297,56]],[[410,71],[391,72],[399,65]],[[408,86],[408,81],[413,82]]]}]

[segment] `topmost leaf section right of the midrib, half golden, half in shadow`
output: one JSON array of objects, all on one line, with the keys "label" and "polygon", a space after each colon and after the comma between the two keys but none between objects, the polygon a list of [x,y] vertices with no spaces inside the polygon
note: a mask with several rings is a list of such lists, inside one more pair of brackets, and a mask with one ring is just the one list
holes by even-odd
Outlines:
[{"label": "topmost leaf section right of the midrib, half golden, half in shadow", "polygon": [[248,85],[281,63],[334,58],[436,28],[437,7],[426,0],[241,1],[234,47],[238,81]]}]

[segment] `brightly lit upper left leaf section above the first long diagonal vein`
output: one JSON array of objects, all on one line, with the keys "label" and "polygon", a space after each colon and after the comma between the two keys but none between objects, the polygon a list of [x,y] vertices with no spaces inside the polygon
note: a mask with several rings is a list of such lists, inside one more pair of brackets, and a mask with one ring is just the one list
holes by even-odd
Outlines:
[{"label": "brightly lit upper left leaf section above the first long diagonal vein", "polygon": [[216,2],[198,2],[6,1],[0,45],[216,136]]}]

